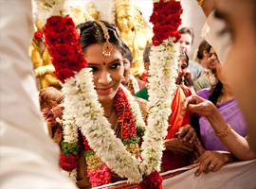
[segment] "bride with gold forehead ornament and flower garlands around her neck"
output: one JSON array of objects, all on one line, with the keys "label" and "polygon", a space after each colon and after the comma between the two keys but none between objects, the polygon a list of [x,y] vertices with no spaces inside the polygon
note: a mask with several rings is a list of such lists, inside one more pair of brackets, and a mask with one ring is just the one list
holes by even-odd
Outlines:
[{"label": "bride with gold forehead ornament and flower garlands around her neck", "polygon": [[[119,35],[113,26],[103,21],[90,21],[78,27],[81,33],[82,52],[88,62],[87,67],[92,70],[95,90],[103,108],[104,117],[107,118],[111,124],[111,129],[121,139],[126,150],[137,157],[140,155],[139,144],[143,128],[136,127],[127,96],[120,87],[123,79],[123,55],[125,51]],[[108,42],[113,47],[110,56],[104,54],[106,49],[102,46],[107,35],[109,35]],[[88,146],[88,142],[80,129],[78,131],[78,143],[74,144],[74,149],[78,148],[77,152],[70,152],[70,146],[69,148],[66,147],[63,136],[64,126],[61,121],[59,121],[60,123],[56,121],[62,119],[64,109],[60,109],[56,105],[62,104],[64,94],[50,87],[41,90],[39,95],[42,102],[50,107],[43,109],[42,112],[44,112],[51,137],[62,148],[61,167],[67,172],[72,172],[77,168],[77,185],[80,188],[90,188],[121,180]],[[140,108],[145,111],[146,104],[139,103]],[[59,119],[56,119],[57,117]],[[74,149],[72,150],[75,151]]]}]

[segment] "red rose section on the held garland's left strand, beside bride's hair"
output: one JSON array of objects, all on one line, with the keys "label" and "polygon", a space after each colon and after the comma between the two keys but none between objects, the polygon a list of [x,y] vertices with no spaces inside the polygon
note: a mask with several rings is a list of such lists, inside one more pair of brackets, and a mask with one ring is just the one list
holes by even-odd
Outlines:
[{"label": "red rose section on the held garland's left strand, beside bride's hair", "polygon": [[47,19],[43,32],[56,70],[54,74],[63,83],[64,79],[74,77],[73,71],[79,72],[87,66],[79,43],[80,36],[69,16],[51,16]]}]

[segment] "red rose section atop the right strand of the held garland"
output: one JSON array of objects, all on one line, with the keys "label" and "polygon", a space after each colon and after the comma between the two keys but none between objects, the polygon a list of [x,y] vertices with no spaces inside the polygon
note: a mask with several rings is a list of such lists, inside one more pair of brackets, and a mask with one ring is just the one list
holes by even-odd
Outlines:
[{"label": "red rose section atop the right strand of the held garland", "polygon": [[159,3],[154,3],[153,13],[150,17],[150,22],[154,25],[154,37],[152,43],[158,46],[162,41],[169,37],[175,37],[174,43],[180,39],[178,26],[181,25],[180,15],[183,9],[180,2],[174,0],[164,2],[160,0]]}]

